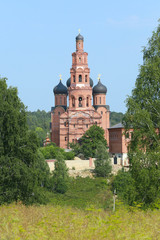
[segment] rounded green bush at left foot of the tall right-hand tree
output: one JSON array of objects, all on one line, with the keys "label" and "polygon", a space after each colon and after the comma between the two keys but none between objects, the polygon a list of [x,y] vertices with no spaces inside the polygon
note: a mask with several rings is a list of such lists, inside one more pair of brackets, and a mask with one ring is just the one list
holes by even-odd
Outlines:
[{"label": "rounded green bush at left foot of the tall right-hand tree", "polygon": [[129,171],[118,171],[112,182],[112,191],[116,190],[118,197],[129,205],[134,205],[136,200],[135,181]]}]

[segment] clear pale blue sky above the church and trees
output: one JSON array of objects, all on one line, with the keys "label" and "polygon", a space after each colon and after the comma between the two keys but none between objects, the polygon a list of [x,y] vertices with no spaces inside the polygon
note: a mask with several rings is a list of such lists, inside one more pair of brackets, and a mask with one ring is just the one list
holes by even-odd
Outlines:
[{"label": "clear pale blue sky above the church and trees", "polygon": [[50,111],[59,75],[63,84],[70,77],[81,29],[94,85],[101,74],[106,104],[125,113],[159,18],[159,0],[0,0],[0,76],[28,111]]}]

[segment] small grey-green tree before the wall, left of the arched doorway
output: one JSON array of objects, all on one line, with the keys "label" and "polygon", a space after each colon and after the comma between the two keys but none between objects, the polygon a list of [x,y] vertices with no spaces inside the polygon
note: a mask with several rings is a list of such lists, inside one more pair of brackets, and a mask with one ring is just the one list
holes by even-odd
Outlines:
[{"label": "small grey-green tree before the wall, left of the arched doorway", "polygon": [[96,160],[94,162],[94,173],[96,177],[108,177],[111,173],[111,163],[107,148],[102,144],[97,144]]}]

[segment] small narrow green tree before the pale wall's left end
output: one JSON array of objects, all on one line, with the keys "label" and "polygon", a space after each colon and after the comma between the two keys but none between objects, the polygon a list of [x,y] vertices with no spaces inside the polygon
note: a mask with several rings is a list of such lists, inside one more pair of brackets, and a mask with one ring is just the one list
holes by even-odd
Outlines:
[{"label": "small narrow green tree before the pale wall's left end", "polygon": [[53,189],[58,193],[65,193],[68,189],[68,168],[63,155],[59,152],[56,157],[55,169],[53,171]]}]

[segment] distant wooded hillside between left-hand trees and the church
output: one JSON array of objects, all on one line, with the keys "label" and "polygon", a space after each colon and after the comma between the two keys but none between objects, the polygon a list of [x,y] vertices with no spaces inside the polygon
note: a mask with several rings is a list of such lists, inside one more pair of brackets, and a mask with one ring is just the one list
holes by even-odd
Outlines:
[{"label": "distant wooded hillside between left-hand trees and the church", "polygon": [[39,109],[34,112],[27,112],[27,124],[30,130],[37,133],[40,146],[43,146],[43,141],[49,132],[51,121],[50,112],[40,111]]}]

